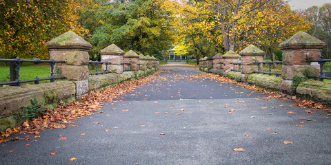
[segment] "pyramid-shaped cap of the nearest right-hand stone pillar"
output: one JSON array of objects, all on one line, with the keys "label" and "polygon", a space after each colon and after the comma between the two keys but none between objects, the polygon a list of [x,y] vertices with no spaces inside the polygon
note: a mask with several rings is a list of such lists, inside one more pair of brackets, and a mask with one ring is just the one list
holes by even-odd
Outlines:
[{"label": "pyramid-shaped cap of the nearest right-hand stone pillar", "polygon": [[306,32],[297,32],[283,43],[279,44],[280,50],[289,49],[322,49],[325,43]]}]

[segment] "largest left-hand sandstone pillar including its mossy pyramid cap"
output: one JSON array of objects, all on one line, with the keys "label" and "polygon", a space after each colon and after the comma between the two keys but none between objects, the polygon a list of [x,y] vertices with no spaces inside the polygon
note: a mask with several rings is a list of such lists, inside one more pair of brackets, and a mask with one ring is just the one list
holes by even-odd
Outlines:
[{"label": "largest left-hand sandstone pillar including its mossy pyramid cap", "polygon": [[46,43],[50,58],[57,63],[54,74],[66,76],[76,84],[76,98],[88,94],[88,51],[92,45],[72,31],[66,32]]}]

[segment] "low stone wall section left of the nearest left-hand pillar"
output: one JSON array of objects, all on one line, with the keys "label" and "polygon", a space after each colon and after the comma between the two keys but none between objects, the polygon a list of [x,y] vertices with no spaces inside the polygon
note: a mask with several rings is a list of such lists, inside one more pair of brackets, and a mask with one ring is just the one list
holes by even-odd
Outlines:
[{"label": "low stone wall section left of the nearest left-hand pillar", "polygon": [[15,113],[21,107],[28,107],[32,98],[37,98],[39,102],[45,102],[48,107],[56,107],[60,101],[74,101],[75,94],[76,85],[67,80],[39,85],[26,84],[21,85],[21,87],[1,87],[0,131],[19,124]]}]

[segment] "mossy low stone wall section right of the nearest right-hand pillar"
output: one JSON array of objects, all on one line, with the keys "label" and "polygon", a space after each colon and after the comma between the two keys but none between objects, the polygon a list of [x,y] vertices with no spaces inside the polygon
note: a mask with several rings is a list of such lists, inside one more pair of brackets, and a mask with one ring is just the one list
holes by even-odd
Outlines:
[{"label": "mossy low stone wall section right of the nearest right-hand pillar", "polygon": [[331,104],[331,82],[307,80],[298,85],[297,94],[299,96]]}]

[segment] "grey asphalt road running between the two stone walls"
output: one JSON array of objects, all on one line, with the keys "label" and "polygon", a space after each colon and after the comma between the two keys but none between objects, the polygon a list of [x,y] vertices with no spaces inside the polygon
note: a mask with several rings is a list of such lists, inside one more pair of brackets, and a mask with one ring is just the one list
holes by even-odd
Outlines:
[{"label": "grey asphalt road running between the two stone walls", "polygon": [[331,164],[328,112],[199,78],[194,67],[161,69],[78,127],[0,144],[0,164]]}]

